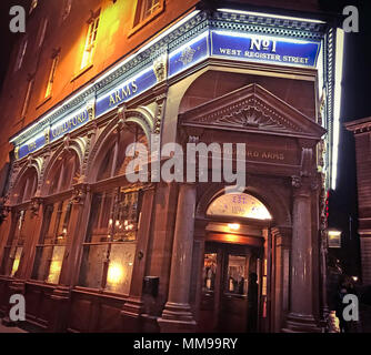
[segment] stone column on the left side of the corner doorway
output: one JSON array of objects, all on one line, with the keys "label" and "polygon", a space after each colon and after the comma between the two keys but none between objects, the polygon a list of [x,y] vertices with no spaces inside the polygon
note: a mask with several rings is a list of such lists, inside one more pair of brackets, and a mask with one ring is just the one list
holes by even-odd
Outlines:
[{"label": "stone column on the left side of the corner doorway", "polygon": [[195,184],[182,183],[179,187],[177,222],[171,257],[168,302],[158,320],[161,332],[193,332],[195,322],[189,304]]}]

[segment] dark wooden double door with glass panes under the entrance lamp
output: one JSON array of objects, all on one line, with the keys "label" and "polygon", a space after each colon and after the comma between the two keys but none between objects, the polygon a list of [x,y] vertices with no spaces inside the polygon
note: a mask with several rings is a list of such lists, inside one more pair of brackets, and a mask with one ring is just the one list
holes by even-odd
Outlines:
[{"label": "dark wooden double door with glass panes under the entrance lamp", "polygon": [[259,250],[205,243],[199,320],[201,332],[258,331],[260,266]]}]

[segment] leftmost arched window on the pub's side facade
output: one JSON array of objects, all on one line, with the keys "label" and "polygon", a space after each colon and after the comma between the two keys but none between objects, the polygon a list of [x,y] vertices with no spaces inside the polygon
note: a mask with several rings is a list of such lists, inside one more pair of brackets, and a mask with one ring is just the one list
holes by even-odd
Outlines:
[{"label": "leftmost arched window on the pub's side facade", "polygon": [[20,265],[23,262],[23,247],[30,237],[32,226],[30,200],[34,195],[38,184],[37,172],[33,168],[28,169],[18,185],[14,187],[13,201],[16,201],[12,227],[4,246],[1,263],[1,274],[17,277]]}]

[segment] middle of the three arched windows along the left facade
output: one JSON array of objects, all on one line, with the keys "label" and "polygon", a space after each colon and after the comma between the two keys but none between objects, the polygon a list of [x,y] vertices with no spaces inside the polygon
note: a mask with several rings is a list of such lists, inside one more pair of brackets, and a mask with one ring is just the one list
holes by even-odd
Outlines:
[{"label": "middle of the three arched windows along the left facade", "polygon": [[64,258],[71,217],[71,187],[78,182],[79,164],[74,152],[59,156],[47,179],[48,194],[32,278],[58,284]]}]

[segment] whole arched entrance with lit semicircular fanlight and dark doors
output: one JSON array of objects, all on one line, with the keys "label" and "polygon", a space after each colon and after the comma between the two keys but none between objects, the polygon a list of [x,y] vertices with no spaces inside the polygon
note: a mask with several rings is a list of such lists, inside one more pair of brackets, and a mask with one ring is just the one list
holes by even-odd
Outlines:
[{"label": "whole arched entrance with lit semicircular fanlight and dark doors", "polygon": [[272,216],[248,193],[215,197],[207,210],[200,332],[258,332],[267,317],[267,246]]}]

